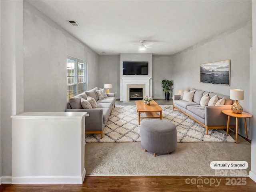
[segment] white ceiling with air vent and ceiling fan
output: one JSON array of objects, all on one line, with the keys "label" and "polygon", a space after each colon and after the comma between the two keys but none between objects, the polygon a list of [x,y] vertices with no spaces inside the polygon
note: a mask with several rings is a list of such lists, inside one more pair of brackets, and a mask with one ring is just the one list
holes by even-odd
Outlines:
[{"label": "white ceiling with air vent and ceiling fan", "polygon": [[[95,52],[106,55],[171,55],[252,19],[250,0],[27,1]],[[140,51],[140,40],[154,44]]]}]

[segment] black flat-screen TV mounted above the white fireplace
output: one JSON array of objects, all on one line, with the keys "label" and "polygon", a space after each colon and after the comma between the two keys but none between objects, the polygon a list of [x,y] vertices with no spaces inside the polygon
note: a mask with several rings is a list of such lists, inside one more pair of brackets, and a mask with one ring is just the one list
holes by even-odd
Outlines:
[{"label": "black flat-screen TV mounted above the white fireplace", "polygon": [[148,75],[148,61],[123,61],[124,75]]}]

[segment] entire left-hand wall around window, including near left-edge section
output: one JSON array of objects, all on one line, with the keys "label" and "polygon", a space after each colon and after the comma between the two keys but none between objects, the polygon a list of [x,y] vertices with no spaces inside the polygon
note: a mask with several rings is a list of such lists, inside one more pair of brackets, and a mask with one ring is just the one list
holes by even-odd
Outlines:
[{"label": "entire left-hand wall around window, including near left-edge section", "polygon": [[64,111],[66,58],[88,62],[99,84],[98,54],[27,2],[0,1],[0,176],[12,176],[12,119],[24,111]]}]

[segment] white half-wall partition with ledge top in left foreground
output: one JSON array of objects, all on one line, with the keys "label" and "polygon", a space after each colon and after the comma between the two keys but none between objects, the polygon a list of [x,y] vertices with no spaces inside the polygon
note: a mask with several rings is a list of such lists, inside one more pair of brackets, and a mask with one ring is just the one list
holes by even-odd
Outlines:
[{"label": "white half-wall partition with ledge top in left foreground", "polygon": [[82,184],[86,114],[12,116],[12,184]]}]

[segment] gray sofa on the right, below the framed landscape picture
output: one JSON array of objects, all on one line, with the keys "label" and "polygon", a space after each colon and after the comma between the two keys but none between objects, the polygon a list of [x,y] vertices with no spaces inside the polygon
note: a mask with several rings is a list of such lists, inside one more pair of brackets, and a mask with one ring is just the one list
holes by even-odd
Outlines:
[{"label": "gray sofa on the right, below the framed landscape picture", "polygon": [[[229,96],[217,94],[204,90],[192,89],[194,92],[192,101],[184,100],[182,94],[173,96],[173,110],[176,108],[204,126],[206,134],[209,129],[226,129],[228,116],[222,113],[222,110],[230,110],[233,100]],[[190,92],[190,93],[192,93]],[[224,98],[225,102],[221,105],[202,106],[200,101],[204,95],[208,94],[209,98],[217,95],[218,100]],[[216,96],[215,96],[216,98]],[[235,127],[235,119],[230,118],[230,128]]]}]

